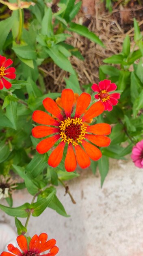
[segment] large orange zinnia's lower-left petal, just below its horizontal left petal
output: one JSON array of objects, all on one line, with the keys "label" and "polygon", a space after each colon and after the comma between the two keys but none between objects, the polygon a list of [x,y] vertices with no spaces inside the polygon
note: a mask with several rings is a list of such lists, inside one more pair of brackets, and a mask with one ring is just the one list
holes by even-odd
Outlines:
[{"label": "large orange zinnia's lower-left petal, just below its horizontal left petal", "polygon": [[56,141],[60,138],[61,138],[60,135],[54,135],[54,136],[49,137],[47,139],[43,139],[42,141],[40,141],[37,144],[36,150],[38,151],[38,153],[44,154],[44,153],[48,152],[48,150],[50,148],[52,148],[52,146],[54,146]]}]

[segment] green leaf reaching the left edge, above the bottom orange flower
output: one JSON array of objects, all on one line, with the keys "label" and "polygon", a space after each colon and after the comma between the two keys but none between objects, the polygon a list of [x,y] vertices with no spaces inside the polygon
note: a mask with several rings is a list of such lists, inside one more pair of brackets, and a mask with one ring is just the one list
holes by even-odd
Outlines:
[{"label": "green leaf reaching the left edge, above the bottom orange flower", "polygon": [[16,217],[19,217],[19,218],[26,218],[28,216],[28,213],[29,213],[30,204],[25,203],[25,204],[22,204],[19,207],[13,207],[13,208],[0,204],[0,209],[2,211],[4,211],[6,214],[10,215],[10,216],[16,216]]}]

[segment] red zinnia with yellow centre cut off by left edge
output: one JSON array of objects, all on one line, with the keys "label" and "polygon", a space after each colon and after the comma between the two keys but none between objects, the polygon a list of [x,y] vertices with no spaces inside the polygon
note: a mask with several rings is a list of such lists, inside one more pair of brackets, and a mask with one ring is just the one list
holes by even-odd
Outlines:
[{"label": "red zinnia with yellow centre cut off by left edge", "polygon": [[0,55],[0,90],[2,90],[3,87],[9,89],[12,86],[9,81],[4,79],[4,77],[7,77],[9,79],[15,79],[15,68],[9,67],[12,63],[13,61],[10,58],[6,60],[6,57]]}]

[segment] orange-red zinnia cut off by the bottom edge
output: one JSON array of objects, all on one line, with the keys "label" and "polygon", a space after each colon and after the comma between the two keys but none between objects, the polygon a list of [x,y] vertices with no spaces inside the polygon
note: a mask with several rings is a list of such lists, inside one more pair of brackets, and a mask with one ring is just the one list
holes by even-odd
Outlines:
[{"label": "orange-red zinnia cut off by the bottom edge", "polygon": [[9,252],[2,252],[0,256],[40,256],[39,254],[41,252],[45,252],[49,249],[49,253],[42,255],[54,256],[58,253],[58,247],[55,246],[56,240],[50,239],[47,241],[47,238],[48,235],[45,233],[42,233],[39,236],[34,235],[31,238],[28,246],[25,236],[17,236],[17,244],[19,245],[22,252],[17,247],[14,247],[12,244],[9,244],[7,246]]}]

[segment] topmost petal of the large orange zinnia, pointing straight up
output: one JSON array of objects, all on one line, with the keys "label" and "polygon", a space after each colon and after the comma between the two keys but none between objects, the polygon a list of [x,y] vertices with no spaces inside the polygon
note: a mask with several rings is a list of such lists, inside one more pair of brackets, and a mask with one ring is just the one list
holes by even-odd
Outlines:
[{"label": "topmost petal of the large orange zinnia, pointing straight up", "polygon": [[72,107],[74,104],[74,92],[71,89],[64,89],[61,95],[63,108],[65,110],[66,117],[70,117],[72,113]]}]

